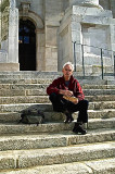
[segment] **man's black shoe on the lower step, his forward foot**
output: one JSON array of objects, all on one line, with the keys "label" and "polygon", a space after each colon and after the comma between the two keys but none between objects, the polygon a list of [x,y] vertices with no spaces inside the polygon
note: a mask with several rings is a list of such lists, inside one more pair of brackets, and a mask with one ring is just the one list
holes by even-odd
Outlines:
[{"label": "man's black shoe on the lower step, his forward foot", "polygon": [[82,124],[81,123],[75,123],[73,132],[76,133],[76,134],[80,133],[81,135],[87,134],[87,130],[82,128]]}]

